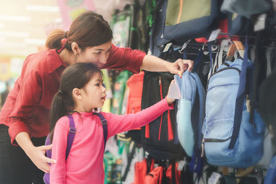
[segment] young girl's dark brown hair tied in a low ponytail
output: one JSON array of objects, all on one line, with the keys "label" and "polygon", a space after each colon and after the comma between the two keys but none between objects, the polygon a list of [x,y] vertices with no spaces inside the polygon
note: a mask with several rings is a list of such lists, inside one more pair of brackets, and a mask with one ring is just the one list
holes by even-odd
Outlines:
[{"label": "young girl's dark brown hair tied in a low ponytail", "polygon": [[83,88],[95,74],[100,74],[102,76],[101,70],[92,63],[75,63],[68,66],[68,68],[62,72],[60,88],[52,99],[50,109],[51,140],[57,121],[62,116],[66,116],[73,112],[75,103],[72,98],[72,90],[74,88]]}]

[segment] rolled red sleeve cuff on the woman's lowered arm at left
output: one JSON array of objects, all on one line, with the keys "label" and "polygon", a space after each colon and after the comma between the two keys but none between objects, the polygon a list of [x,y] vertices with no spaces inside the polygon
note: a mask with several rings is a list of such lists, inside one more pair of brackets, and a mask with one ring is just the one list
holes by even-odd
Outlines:
[{"label": "rolled red sleeve cuff on the woman's lowered arm at left", "polygon": [[27,132],[30,135],[30,130],[28,126],[23,123],[23,121],[16,121],[14,123],[11,123],[8,132],[10,134],[10,141],[12,145],[18,145],[17,141],[15,141],[15,137],[20,132]]}]

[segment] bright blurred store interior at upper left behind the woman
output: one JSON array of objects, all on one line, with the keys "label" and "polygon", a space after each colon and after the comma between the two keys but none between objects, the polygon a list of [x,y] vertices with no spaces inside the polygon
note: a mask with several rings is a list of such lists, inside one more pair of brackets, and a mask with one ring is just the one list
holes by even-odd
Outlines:
[{"label": "bright blurred store interior at upper left behind the woman", "polygon": [[43,50],[48,34],[70,23],[81,12],[93,10],[106,21],[115,9],[130,0],[1,0],[0,6],[0,93],[12,88],[28,54]]}]

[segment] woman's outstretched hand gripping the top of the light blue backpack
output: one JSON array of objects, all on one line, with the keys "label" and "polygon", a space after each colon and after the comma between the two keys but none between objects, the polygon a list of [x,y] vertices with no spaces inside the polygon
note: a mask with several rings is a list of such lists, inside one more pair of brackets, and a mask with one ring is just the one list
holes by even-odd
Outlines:
[{"label": "woman's outstretched hand gripping the top of the light blue backpack", "polygon": [[172,74],[178,74],[179,76],[182,76],[182,74],[188,70],[189,72],[192,72],[194,67],[194,62],[192,60],[188,59],[177,59],[175,63],[171,63],[168,70]]}]

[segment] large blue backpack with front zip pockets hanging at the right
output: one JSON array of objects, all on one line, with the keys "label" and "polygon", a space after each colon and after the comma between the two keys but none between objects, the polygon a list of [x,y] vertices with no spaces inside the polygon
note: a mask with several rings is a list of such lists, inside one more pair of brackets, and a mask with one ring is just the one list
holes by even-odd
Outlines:
[{"label": "large blue backpack with front zip pockets hanging at the right", "polygon": [[250,123],[246,108],[246,87],[250,88],[252,78],[249,69],[253,66],[247,51],[246,41],[244,59],[222,63],[208,81],[202,143],[212,165],[249,167],[263,155],[264,123],[257,110]]}]

